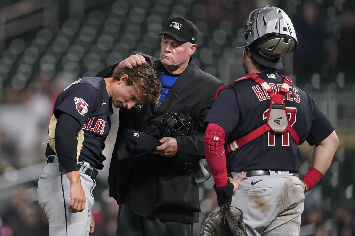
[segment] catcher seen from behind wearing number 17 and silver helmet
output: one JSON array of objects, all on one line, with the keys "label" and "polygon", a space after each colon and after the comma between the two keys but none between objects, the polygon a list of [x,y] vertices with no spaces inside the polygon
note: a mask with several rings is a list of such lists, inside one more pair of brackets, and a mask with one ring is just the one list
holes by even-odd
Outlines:
[{"label": "catcher seen from behind wearing number 17 and silver helmet", "polygon": [[[222,223],[230,226],[231,205],[244,213],[249,236],[299,236],[304,194],[327,172],[339,140],[313,98],[277,74],[283,67],[280,57],[297,46],[286,13],[273,6],[252,11],[242,37],[247,75],[217,90],[204,120],[206,160],[218,205],[227,212]],[[300,180],[298,145],[306,140],[315,150],[312,167]]]}]

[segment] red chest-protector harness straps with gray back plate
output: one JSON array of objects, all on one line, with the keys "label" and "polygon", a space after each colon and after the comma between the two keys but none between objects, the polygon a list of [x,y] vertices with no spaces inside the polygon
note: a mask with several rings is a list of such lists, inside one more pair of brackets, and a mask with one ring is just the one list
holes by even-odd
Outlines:
[{"label": "red chest-protector harness straps with gray back plate", "polygon": [[[273,89],[267,82],[265,82],[263,79],[261,79],[257,74],[246,75],[246,76],[241,77],[240,79],[230,83],[230,84],[232,84],[237,81],[252,79],[255,82],[257,82],[258,84],[260,84],[260,86],[262,86],[264,88],[264,90],[269,94],[269,96],[271,98],[271,102],[270,102],[270,109],[268,110],[268,113],[267,113],[266,124],[260,126],[259,128],[256,128],[255,130],[253,130],[249,134],[245,135],[244,137],[241,137],[241,138],[235,140],[233,143],[227,145],[227,148],[226,148],[227,154],[232,151],[235,151],[240,146],[242,146],[246,143],[249,143],[253,139],[256,139],[257,137],[261,136],[262,134],[266,133],[267,131],[273,131],[275,133],[289,132],[291,137],[295,140],[295,142],[297,144],[299,144],[300,136],[296,133],[296,131],[290,125],[287,111],[286,111],[285,102],[284,102],[285,95],[289,91],[289,87],[291,86],[292,80],[287,76],[283,76],[283,75],[280,75],[280,76],[284,78],[284,81],[283,81],[283,84],[282,84],[280,91],[277,95],[274,93],[274,90],[276,88]],[[228,84],[228,85],[230,85],[230,84]],[[217,99],[219,92],[225,86],[227,86],[227,85],[224,85],[224,86],[218,88],[216,95],[215,95],[215,99]]]}]

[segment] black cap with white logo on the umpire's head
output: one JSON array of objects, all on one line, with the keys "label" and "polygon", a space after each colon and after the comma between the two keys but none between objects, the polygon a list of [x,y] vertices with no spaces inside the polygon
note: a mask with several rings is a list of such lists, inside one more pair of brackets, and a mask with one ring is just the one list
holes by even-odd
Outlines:
[{"label": "black cap with white logo on the umpire's head", "polygon": [[181,17],[168,19],[163,33],[168,34],[181,42],[191,42],[196,44],[198,29],[194,23]]}]

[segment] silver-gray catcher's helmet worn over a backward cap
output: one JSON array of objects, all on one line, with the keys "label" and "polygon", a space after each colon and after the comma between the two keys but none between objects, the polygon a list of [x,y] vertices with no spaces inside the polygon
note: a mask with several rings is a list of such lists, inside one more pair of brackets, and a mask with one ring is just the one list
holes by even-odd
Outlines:
[{"label": "silver-gray catcher's helmet worn over a backward cap", "polygon": [[296,32],[290,18],[283,10],[273,6],[252,11],[242,37],[245,46],[255,47],[252,55],[257,62],[275,69],[282,68],[279,57],[297,47]]}]

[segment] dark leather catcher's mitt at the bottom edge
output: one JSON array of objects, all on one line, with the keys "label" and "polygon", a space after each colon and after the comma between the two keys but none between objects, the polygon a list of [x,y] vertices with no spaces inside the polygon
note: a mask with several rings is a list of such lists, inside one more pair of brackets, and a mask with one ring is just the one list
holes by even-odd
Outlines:
[{"label": "dark leather catcher's mitt at the bottom edge", "polygon": [[200,236],[247,236],[243,212],[229,207],[210,214],[201,226]]}]

